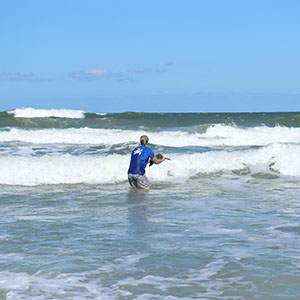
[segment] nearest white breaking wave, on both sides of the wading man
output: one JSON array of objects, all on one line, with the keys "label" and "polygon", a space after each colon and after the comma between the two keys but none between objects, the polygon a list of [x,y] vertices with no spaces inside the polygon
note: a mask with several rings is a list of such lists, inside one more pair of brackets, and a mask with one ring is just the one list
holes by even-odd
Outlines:
[{"label": "nearest white breaking wave, on both sides of the wading man", "polygon": [[[240,172],[300,177],[300,145],[273,144],[260,149],[168,154],[171,161],[147,168],[152,181],[187,180],[198,175]],[[106,184],[125,181],[129,155],[42,157],[0,155],[0,184]]]}]

